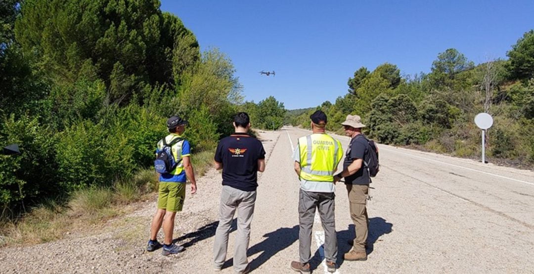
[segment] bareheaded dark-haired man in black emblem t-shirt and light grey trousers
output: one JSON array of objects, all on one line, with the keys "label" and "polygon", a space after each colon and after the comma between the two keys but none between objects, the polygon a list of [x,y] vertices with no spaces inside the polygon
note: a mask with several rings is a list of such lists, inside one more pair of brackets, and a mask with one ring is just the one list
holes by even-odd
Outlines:
[{"label": "bareheaded dark-haired man in black emblem t-shirt and light grey trousers", "polygon": [[237,209],[233,265],[235,272],[248,273],[247,249],[258,187],[257,172],[265,170],[265,150],[259,140],[247,134],[250,118],[246,112],[235,115],[233,125],[235,133],[219,141],[215,151],[215,168],[223,170],[223,190],[215,232],[214,270],[221,270],[226,261],[230,225]]}]

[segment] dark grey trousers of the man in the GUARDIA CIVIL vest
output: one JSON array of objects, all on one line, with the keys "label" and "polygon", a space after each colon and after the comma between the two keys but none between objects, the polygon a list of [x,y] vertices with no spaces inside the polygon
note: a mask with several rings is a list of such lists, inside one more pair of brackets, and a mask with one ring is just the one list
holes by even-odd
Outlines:
[{"label": "dark grey trousers of the man in the GUARDIA CIVIL vest", "polygon": [[337,257],[337,238],[335,235],[335,194],[328,192],[299,193],[299,255],[302,264],[311,260],[311,232],[315,219],[315,208],[319,209],[321,224],[325,230],[325,257],[327,262],[335,262]]}]

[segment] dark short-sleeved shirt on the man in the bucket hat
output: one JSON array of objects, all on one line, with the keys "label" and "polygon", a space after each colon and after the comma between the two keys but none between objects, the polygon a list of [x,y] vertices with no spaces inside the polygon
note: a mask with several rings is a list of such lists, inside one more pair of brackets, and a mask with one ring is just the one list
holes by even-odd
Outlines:
[{"label": "dark short-sleeved shirt on the man in the bucket hat", "polygon": [[[343,169],[352,164],[356,159],[368,159],[369,151],[367,149],[368,143],[367,140],[360,135],[352,138],[345,153],[345,159],[343,161]],[[355,173],[350,176],[345,177],[345,184],[370,184],[371,177],[369,176],[369,171],[365,167],[365,164],[362,163],[362,167]]]}]

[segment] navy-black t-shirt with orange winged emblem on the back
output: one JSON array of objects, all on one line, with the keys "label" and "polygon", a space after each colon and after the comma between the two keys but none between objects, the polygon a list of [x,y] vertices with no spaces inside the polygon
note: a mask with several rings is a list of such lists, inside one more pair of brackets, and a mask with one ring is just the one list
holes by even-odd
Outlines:
[{"label": "navy-black t-shirt with orange winged emblem on the back", "polygon": [[243,191],[256,190],[258,159],[265,158],[260,140],[235,133],[219,141],[215,161],[223,164],[223,185]]}]

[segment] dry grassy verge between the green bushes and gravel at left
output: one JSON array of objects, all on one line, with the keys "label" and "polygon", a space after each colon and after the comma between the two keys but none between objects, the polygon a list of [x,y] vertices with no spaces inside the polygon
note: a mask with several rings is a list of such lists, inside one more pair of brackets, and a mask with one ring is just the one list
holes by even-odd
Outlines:
[{"label": "dry grassy verge between the green bushes and gravel at left", "polygon": [[[213,155],[214,151],[210,150],[191,156],[197,178],[213,165]],[[40,244],[61,239],[69,231],[103,224],[131,210],[124,205],[144,199],[152,202],[157,191],[158,178],[151,169],[139,170],[130,180],[117,180],[113,187],[93,186],[74,190],[65,205],[46,200],[20,219],[0,220],[0,246]]]}]

